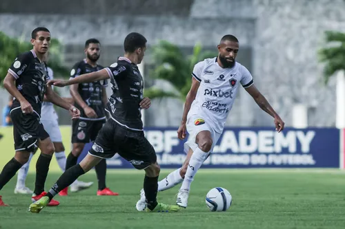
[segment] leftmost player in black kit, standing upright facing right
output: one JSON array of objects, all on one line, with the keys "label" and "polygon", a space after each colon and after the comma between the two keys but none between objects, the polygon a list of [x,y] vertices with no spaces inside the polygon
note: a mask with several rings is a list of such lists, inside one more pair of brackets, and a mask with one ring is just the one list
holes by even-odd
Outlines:
[{"label": "leftmost player in black kit, standing upright facing right", "polygon": [[[0,174],[0,190],[26,164],[30,151],[38,146],[41,154],[36,164],[36,182],[32,201],[44,195],[44,184],[48,175],[50,160],[54,153],[54,145],[40,122],[43,97],[50,102],[70,111],[72,119],[79,118],[80,111],[57,95],[51,87],[46,87],[49,80],[46,63],[43,58],[50,45],[50,32],[47,28],[36,28],[31,34],[33,49],[20,54],[12,63],[3,86],[14,97],[10,116],[13,122],[14,157],[8,162]],[[59,205],[58,201],[50,201],[50,206]],[[0,196],[0,206],[5,206]]]}]

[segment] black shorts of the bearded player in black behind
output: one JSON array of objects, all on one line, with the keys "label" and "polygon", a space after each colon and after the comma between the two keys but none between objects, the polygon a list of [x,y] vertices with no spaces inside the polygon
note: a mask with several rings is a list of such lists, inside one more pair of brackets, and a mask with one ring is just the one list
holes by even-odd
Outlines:
[{"label": "black shorts of the bearded player in black behind", "polygon": [[104,123],[106,123],[106,119],[97,121],[82,119],[73,120],[72,143],[88,143],[95,141]]}]

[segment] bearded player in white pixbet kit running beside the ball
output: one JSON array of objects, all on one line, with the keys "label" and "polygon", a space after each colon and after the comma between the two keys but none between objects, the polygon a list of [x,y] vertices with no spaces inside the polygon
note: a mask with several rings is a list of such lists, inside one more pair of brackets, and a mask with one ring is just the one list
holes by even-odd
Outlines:
[{"label": "bearded player in white pixbet kit running beside the ball", "polygon": [[[182,121],[177,131],[181,140],[186,138],[186,131],[190,134],[184,144],[187,157],[181,168],[158,182],[159,191],[182,182],[176,201],[180,207],[186,208],[188,205],[190,184],[219,140],[240,85],[262,110],[273,117],[275,129],[278,132],[284,129],[282,118],[255,87],[248,69],[235,61],[238,51],[237,38],[225,35],[218,45],[218,56],[197,63],[193,69],[192,86],[186,97]],[[141,190],[137,210],[143,210],[145,205],[144,190]]]}]

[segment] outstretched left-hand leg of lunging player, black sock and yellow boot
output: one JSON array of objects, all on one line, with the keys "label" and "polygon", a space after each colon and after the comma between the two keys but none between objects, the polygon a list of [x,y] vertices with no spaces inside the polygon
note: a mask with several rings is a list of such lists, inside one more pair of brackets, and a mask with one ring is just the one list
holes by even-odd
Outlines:
[{"label": "outstretched left-hand leg of lunging player, black sock and yellow boot", "polygon": [[72,184],[72,182],[75,182],[75,180],[83,175],[84,173],[87,173],[90,171],[91,168],[93,168],[96,164],[98,164],[101,161],[101,158],[95,157],[93,155],[86,155],[86,157],[83,158],[83,160],[71,168],[68,168],[59,179],[57,179],[57,182],[50,188],[48,193],[44,195],[41,199],[35,201],[34,203],[30,204],[29,211],[32,213],[39,213],[42,208],[46,207],[49,202],[53,201],[55,195],[59,193],[63,188],[66,188]]}]

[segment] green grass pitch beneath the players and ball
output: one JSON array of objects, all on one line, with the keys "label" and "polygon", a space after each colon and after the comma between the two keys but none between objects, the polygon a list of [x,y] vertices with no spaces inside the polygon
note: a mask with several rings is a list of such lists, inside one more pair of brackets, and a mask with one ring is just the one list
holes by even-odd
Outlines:
[{"label": "green grass pitch beneath the players and ball", "polygon": [[[161,178],[168,174],[162,170]],[[46,190],[60,173],[48,175]],[[144,180],[143,171],[108,170],[107,186],[120,193],[97,197],[94,171],[80,177],[95,184],[88,190],[57,196],[58,207],[28,212],[30,196],[14,195],[17,177],[0,195],[10,207],[0,208],[0,228],[345,228],[345,173],[337,170],[202,169],[195,177],[188,208],[176,213],[137,212],[135,203]],[[27,186],[33,188],[34,173]],[[221,186],[233,195],[227,212],[210,212],[205,195]],[[178,188],[159,193],[158,200],[175,204]]]}]

